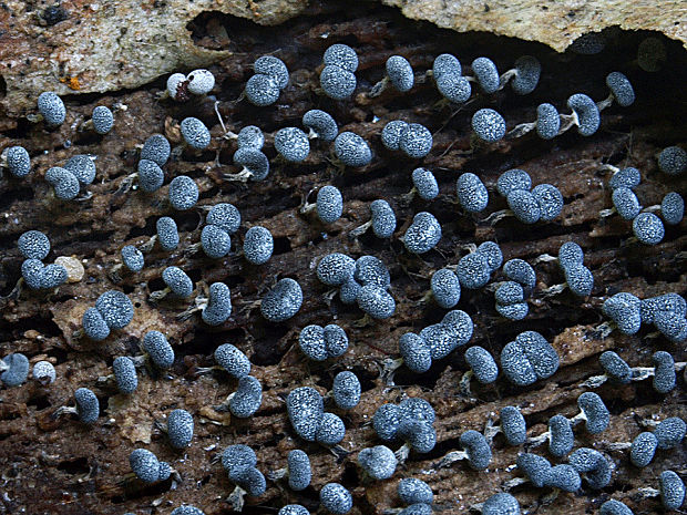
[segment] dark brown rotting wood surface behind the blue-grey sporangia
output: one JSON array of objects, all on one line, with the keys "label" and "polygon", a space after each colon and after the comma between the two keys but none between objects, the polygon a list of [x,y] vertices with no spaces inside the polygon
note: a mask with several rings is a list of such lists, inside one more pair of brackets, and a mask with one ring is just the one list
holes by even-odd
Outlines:
[{"label": "dark brown rotting wood surface behind the blue-grey sporangia", "polygon": [[[57,131],[48,132],[41,124],[25,120],[6,119],[0,124],[0,147],[24,145],[31,156],[33,174],[24,181],[1,179],[0,208],[0,293],[7,296],[20,277],[21,258],[17,238],[24,230],[43,230],[50,237],[51,261],[57,256],[78,256],[84,260],[85,276],[81,282],[64,285],[57,292],[23,290],[19,299],[6,299],[0,319],[1,356],[23,352],[31,362],[49,357],[58,370],[58,380],[48,388],[28,382],[20,388],[0,391],[0,471],[3,492],[0,513],[63,513],[122,514],[170,513],[182,503],[202,507],[205,513],[228,513],[224,501],[233,486],[213,456],[233,443],[253,446],[263,472],[286,465],[291,449],[304,449],[312,462],[312,486],[294,493],[284,484],[268,482],[267,493],[249,499],[245,513],[275,513],[288,503],[300,503],[315,511],[318,492],[328,482],[340,482],[353,493],[352,513],[382,513],[399,506],[396,486],[401,477],[420,477],[434,491],[435,505],[445,513],[468,513],[472,504],[483,502],[500,491],[500,485],[517,476],[510,465],[519,449],[509,447],[500,437],[493,444],[494,459],[489,473],[472,471],[465,462],[429,474],[439,459],[458,449],[458,439],[469,429],[482,430],[490,415],[500,408],[521,406],[532,435],[545,431],[546,421],[555,413],[567,416],[576,412],[576,398],[584,391],[580,383],[601,373],[598,354],[616,350],[630,365],[649,365],[656,350],[668,350],[676,361],[685,361],[684,346],[660,338],[649,338],[652,328],[644,327],[637,336],[612,333],[599,339],[594,328],[603,322],[601,303],[618,291],[629,291],[645,298],[668,291],[685,295],[685,222],[677,227],[666,226],[660,245],[646,247],[628,243],[630,225],[617,217],[599,220],[598,212],[611,207],[605,187],[608,173],[599,171],[602,163],[633,165],[642,171],[642,184],[636,192],[645,206],[658,204],[669,190],[685,194],[685,177],[667,177],[656,167],[656,154],[663,147],[685,141],[687,106],[685,52],[677,43],[666,41],[671,66],[657,74],[637,69],[632,59],[643,34],[621,34],[614,44],[599,55],[558,55],[544,47],[488,34],[453,34],[422,23],[403,20],[392,11],[378,8],[334,8],[314,12],[311,17],[293,20],[280,28],[259,28],[228,17],[203,17],[193,24],[198,44],[232,50],[235,55],[212,69],[217,78],[215,93],[221,112],[230,128],[255,124],[267,133],[267,153],[273,171],[264,183],[246,186],[222,179],[224,173],[235,173],[233,142],[222,140],[222,128],[209,99],[174,104],[160,101],[156,93],[164,87],[161,81],[139,91],[125,91],[105,97],[65,99],[68,120]],[[217,25],[224,25],[230,40],[213,38]],[[59,25],[58,25],[59,27]],[[360,55],[357,72],[357,96],[351,102],[332,102],[318,94],[318,65],[326,47],[346,42]],[[289,86],[277,105],[255,109],[245,101],[237,102],[250,64],[265,53],[274,52],[291,71]],[[465,64],[479,55],[492,58],[505,71],[522,54],[536,55],[543,74],[535,92],[519,97],[510,87],[492,97],[474,95],[460,110],[438,107],[439,94],[431,81],[420,73],[431,68],[442,52],[458,55]],[[416,72],[417,85],[410,94],[391,91],[370,101],[365,92],[382,74],[383,63],[391,54],[407,56]],[[603,112],[602,128],[584,138],[571,131],[552,142],[534,135],[502,141],[470,154],[470,119],[481,106],[492,106],[505,117],[509,128],[532,121],[542,102],[552,102],[567,112],[565,100],[572,93],[584,92],[595,100],[606,96],[605,75],[614,70],[626,73],[637,92],[637,102],[627,109],[613,106]],[[94,105],[122,102],[129,106],[116,114],[115,128],[104,137],[74,130],[75,122],[88,119]],[[299,165],[278,164],[274,159],[270,133],[283,126],[300,125],[300,117],[311,107],[330,112],[340,130],[350,130],[372,146],[375,159],[363,169],[338,173],[331,165],[330,150],[315,144],[307,161]],[[165,166],[167,181],[187,174],[199,186],[199,205],[230,202],[242,213],[243,225],[233,248],[239,248],[247,227],[263,225],[275,237],[275,256],[264,266],[248,266],[235,251],[222,260],[209,260],[201,253],[189,255],[187,247],[199,240],[203,210],[172,213],[165,205],[165,185],[154,195],[139,190],[122,193],[126,175],[135,169],[136,145],[154,132],[163,132],[180,141],[176,123],[197,115],[212,127],[213,142],[202,153],[184,152],[180,159]],[[434,134],[431,154],[422,162],[411,162],[386,151],[379,141],[383,125],[396,119],[425,124]],[[70,142],[70,143],[68,143]],[[89,187],[93,193],[83,202],[58,203],[42,176],[50,166],[61,164],[71,155],[98,155],[98,177]],[[431,203],[416,198],[410,204],[401,197],[410,187],[411,171],[423,165],[440,181],[441,195]],[[505,169],[522,167],[533,184],[556,185],[565,197],[562,215],[550,224],[524,226],[513,219],[495,227],[481,223],[486,215],[506,207],[495,194],[495,181]],[[454,183],[462,172],[476,173],[490,189],[486,213],[468,216],[454,204]],[[345,198],[344,217],[331,226],[322,226],[298,214],[299,206],[314,188],[326,184],[339,187]],[[369,203],[376,198],[389,200],[399,219],[391,241],[367,234],[352,240],[348,233],[369,219]],[[421,258],[408,255],[398,237],[420,210],[434,214],[443,227],[443,237],[435,250]],[[154,234],[155,220],[173,216],[182,231],[182,245],[171,254],[157,247],[146,255],[146,267],[139,275],[122,275],[114,284],[109,272],[120,262],[120,249],[125,244],[140,245]],[[563,282],[555,262],[535,266],[537,291],[530,301],[530,315],[521,322],[500,318],[493,307],[493,295],[463,291],[458,306],[475,322],[470,344],[486,348],[494,357],[519,332],[533,329],[542,332],[561,356],[556,374],[526,389],[514,388],[503,378],[495,385],[481,387],[473,382],[475,399],[461,396],[458,382],[466,370],[463,349],[435,363],[424,374],[416,375],[401,369],[396,375],[400,387],[387,389],[379,379],[380,362],[396,357],[399,337],[409,330],[419,331],[443,316],[431,301],[421,301],[429,288],[432,271],[455,264],[466,253],[465,246],[493,239],[501,245],[504,260],[520,257],[533,262],[541,254],[556,255],[560,245],[577,241],[585,250],[585,265],[595,278],[593,293],[578,299],[570,292],[555,297],[541,295],[543,288]],[[388,321],[357,328],[361,317],[356,307],[346,307],[338,299],[328,300],[327,288],[315,276],[317,259],[332,251],[353,257],[371,254],[381,258],[391,270],[392,295],[397,312]],[[162,301],[153,305],[150,292],[161,289],[164,267],[181,266],[196,284],[224,281],[232,289],[234,313],[218,329],[211,329],[196,315],[178,320],[186,309],[184,302]],[[250,308],[280,277],[297,278],[305,291],[301,310],[286,323],[268,323],[259,310]],[[499,280],[498,272],[492,280]],[[103,343],[72,338],[80,327],[83,311],[107,289],[121,289],[135,305],[133,322],[115,331]],[[308,323],[341,325],[351,341],[349,351],[332,363],[307,362],[297,349],[300,328]],[[131,398],[117,395],[110,383],[99,377],[111,373],[116,356],[135,354],[139,339],[145,331],[165,332],[176,352],[168,375],[141,374],[139,390]],[[214,364],[212,353],[224,342],[245,351],[254,368],[253,374],[264,385],[264,401],[258,413],[248,421],[230,420],[217,413],[213,405],[221,403],[236,388],[226,374],[195,374],[196,367]],[[342,414],[347,435],[342,445],[351,452],[342,461],[322,447],[306,444],[294,433],[286,415],[284,399],[294,388],[312,385],[321,393],[331,387],[340,370],[353,370],[361,379],[361,403]],[[643,426],[643,419],[663,420],[687,416],[684,405],[684,379],[667,395],[655,393],[650,381],[627,387],[603,385],[596,390],[612,412],[609,429],[591,436],[577,429],[576,446],[603,450],[606,442],[629,442]],[[101,401],[98,423],[86,428],[72,419],[52,421],[50,414],[60,405],[72,403],[73,391],[88,387]],[[379,444],[369,422],[375,410],[384,402],[397,402],[402,395],[422,396],[437,411],[438,445],[427,455],[411,454],[393,478],[366,484],[356,465],[357,453],[365,446]],[[175,408],[194,414],[196,432],[193,445],[184,453],[174,452],[164,434],[153,428],[155,420]],[[337,412],[331,405],[328,410]],[[129,453],[139,446],[153,451],[180,471],[183,482],[174,491],[170,484],[143,487],[137,482],[123,484],[130,472]],[[547,455],[544,447],[536,452]],[[603,491],[592,491],[583,483],[577,494],[561,494],[546,504],[546,491],[522,485],[512,493],[527,513],[581,514],[595,513],[607,498],[617,498],[635,513],[660,512],[656,498],[642,499],[637,490],[657,487],[657,476],[664,470],[684,470],[684,446],[677,452],[658,452],[654,462],[638,470],[628,464],[626,452],[606,452],[614,462],[612,483]],[[153,507],[156,506],[156,507]]]}]

